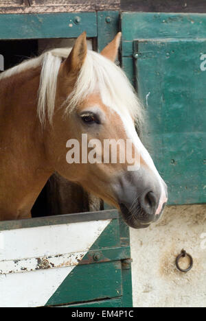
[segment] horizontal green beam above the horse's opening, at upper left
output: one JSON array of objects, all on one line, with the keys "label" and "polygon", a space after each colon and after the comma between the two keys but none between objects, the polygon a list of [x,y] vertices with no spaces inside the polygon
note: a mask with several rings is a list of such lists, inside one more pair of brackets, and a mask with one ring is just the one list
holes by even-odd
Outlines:
[{"label": "horizontal green beam above the horse's opening, at upper left", "polygon": [[97,36],[95,12],[0,14],[0,39],[77,38],[84,31]]}]

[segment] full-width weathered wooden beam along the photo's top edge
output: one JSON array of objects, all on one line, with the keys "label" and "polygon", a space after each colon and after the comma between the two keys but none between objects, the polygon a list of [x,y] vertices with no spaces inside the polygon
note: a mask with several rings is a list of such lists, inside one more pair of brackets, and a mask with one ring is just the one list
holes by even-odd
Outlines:
[{"label": "full-width weathered wooden beam along the photo's top edge", "polygon": [[122,10],[206,12],[205,0],[0,0],[0,13],[49,13]]}]

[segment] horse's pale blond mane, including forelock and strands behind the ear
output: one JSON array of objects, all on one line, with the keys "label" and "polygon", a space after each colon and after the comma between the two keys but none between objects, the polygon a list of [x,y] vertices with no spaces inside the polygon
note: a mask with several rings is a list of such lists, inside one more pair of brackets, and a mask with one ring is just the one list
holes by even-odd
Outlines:
[{"label": "horse's pale blond mane, including forelock and strands behind the ear", "polygon": [[[58,71],[62,58],[67,58],[70,51],[71,48],[52,49],[0,74],[2,80],[41,66],[37,112],[42,124],[45,123],[46,116],[52,123]],[[71,112],[83,99],[95,92],[100,93],[102,102],[111,110],[123,115],[129,112],[134,119],[137,119],[138,125],[141,124],[143,120],[141,104],[124,71],[99,53],[88,50],[73,91],[62,105],[65,106],[65,113]]]}]

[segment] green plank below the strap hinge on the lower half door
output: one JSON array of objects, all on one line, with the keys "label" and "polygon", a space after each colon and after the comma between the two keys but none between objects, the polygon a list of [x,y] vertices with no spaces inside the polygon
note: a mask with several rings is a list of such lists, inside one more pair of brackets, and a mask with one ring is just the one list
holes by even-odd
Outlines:
[{"label": "green plank below the strap hinge on the lower half door", "polygon": [[87,302],[122,296],[121,261],[78,265],[46,305]]}]

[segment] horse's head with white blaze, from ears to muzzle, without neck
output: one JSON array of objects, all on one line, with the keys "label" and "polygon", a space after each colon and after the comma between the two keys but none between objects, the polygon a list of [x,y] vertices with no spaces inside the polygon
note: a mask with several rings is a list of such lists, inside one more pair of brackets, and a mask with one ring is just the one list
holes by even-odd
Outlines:
[{"label": "horse's head with white blaze, from ears to muzzle, without neck", "polygon": [[[55,85],[40,91],[38,112],[42,123],[45,117],[50,120],[45,149],[55,170],[113,204],[129,226],[145,228],[161,216],[167,187],[137,134],[144,116],[115,64],[120,38],[118,33],[96,53],[87,49],[86,34],[80,35],[60,62]],[[43,72],[52,78],[49,66],[48,59]]]}]

